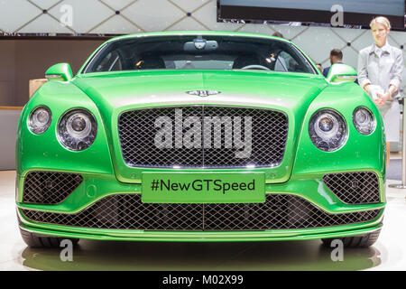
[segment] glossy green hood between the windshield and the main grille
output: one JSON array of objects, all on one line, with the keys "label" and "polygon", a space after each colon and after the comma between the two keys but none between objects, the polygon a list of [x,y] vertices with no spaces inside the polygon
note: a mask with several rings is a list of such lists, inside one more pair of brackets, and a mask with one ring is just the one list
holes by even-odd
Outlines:
[{"label": "glossy green hood between the windshield and the main grille", "polygon": [[[132,71],[79,76],[73,80],[97,107],[122,110],[132,107],[177,104],[225,104],[309,107],[328,83],[318,75],[265,71]],[[208,97],[191,90],[216,90]],[[283,109],[283,110],[285,110]],[[292,112],[293,112],[292,111]]]}]

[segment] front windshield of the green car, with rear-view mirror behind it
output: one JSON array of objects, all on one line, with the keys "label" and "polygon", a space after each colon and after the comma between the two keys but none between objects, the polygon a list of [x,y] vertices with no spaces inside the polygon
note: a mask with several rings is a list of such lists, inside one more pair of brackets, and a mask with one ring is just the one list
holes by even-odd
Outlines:
[{"label": "front windshield of the green car, with rear-view mirror behind it", "polygon": [[119,70],[316,71],[291,43],[224,35],[145,36],[107,43],[83,73]]}]

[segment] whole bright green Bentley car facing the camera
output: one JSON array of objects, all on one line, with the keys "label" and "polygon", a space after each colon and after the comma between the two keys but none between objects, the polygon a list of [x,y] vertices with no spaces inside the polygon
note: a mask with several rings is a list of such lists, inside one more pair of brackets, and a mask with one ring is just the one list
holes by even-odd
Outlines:
[{"label": "whole bright green Bentley car facing the camera", "polygon": [[30,247],[80,238],[368,247],[382,228],[385,136],[356,72],[323,77],[261,34],[113,38],[23,108],[16,206]]}]

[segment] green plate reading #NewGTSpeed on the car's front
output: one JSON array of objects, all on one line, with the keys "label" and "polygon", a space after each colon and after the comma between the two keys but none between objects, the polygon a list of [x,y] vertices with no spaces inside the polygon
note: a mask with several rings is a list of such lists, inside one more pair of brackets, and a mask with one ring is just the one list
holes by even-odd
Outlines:
[{"label": "green plate reading #NewGTSpeed on the car's front", "polygon": [[263,172],[143,172],[143,202],[251,203],[265,201]]}]

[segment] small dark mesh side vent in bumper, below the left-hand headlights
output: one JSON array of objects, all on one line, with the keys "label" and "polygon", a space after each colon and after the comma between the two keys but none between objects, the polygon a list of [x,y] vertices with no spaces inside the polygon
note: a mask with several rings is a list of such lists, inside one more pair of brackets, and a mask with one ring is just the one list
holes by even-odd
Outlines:
[{"label": "small dark mesh side vent in bumper, below the left-hand headlights", "polygon": [[24,179],[23,202],[58,204],[75,191],[83,177],[67,172],[29,172]]}]

